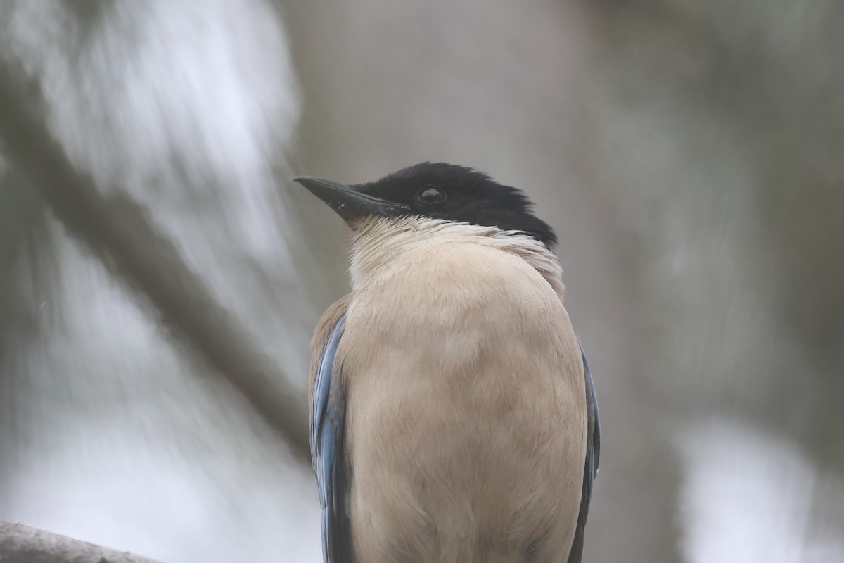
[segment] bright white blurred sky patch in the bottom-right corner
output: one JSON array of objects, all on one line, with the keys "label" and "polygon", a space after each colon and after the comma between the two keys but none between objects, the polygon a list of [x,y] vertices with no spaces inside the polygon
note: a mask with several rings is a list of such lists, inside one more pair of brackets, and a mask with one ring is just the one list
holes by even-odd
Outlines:
[{"label": "bright white blurred sky patch in the bottom-right corner", "polygon": [[723,419],[677,438],[684,459],[679,516],[688,563],[844,561],[844,509],[833,512],[839,519],[830,522],[830,530],[815,529],[812,522],[819,495],[832,495],[831,504],[842,506],[844,489],[824,483],[797,444]]}]

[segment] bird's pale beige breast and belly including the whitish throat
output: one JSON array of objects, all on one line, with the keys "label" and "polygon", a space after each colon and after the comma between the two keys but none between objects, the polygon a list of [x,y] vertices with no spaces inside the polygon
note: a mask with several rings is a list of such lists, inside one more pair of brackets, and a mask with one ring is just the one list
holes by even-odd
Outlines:
[{"label": "bird's pale beige breast and belly including the whitish throat", "polygon": [[345,311],[354,561],[565,563],[587,409],[555,257],[430,219],[357,235],[354,292],[314,343],[316,358]]}]

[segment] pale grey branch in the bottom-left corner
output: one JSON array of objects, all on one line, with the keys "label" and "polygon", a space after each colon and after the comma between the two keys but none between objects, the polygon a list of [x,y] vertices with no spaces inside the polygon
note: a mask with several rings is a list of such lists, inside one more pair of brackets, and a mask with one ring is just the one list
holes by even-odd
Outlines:
[{"label": "pale grey branch in the bottom-left corner", "polygon": [[57,533],[0,520],[0,561],[8,563],[155,563]]}]

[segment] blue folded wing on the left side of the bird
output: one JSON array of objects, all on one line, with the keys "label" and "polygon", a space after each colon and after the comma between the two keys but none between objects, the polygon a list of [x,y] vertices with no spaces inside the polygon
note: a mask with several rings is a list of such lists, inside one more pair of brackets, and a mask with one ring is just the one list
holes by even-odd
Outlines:
[{"label": "blue folded wing on the left side of the bird", "polygon": [[334,360],[345,317],[340,317],[328,336],[314,380],[311,405],[311,462],[317,475],[322,507],[322,560],[344,563],[346,515],[344,510],[344,420],[343,388],[334,373]]}]

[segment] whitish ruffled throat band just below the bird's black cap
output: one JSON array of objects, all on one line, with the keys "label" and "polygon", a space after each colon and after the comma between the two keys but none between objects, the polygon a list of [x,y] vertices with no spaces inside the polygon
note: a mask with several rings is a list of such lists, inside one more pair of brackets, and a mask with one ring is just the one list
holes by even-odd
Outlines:
[{"label": "whitish ruffled throat band just below the bird's black cap", "polygon": [[414,248],[457,241],[489,246],[521,257],[563,299],[565,285],[560,263],[543,243],[518,231],[426,217],[371,217],[357,225],[350,267],[352,287],[356,289],[367,277]]}]

